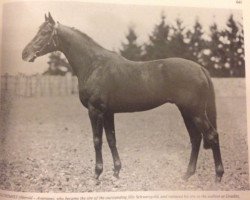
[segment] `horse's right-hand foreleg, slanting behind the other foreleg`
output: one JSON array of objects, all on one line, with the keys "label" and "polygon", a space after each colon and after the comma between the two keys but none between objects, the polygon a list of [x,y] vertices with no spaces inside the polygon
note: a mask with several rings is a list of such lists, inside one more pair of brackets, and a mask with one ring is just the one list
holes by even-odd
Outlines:
[{"label": "horse's right-hand foreleg, slanting behind the other foreleg", "polygon": [[115,126],[114,126],[114,114],[107,113],[104,115],[104,129],[106,132],[107,141],[109,148],[112,153],[114,162],[114,176],[119,177],[119,172],[121,169],[121,161],[116,148],[116,138],[115,138]]}]

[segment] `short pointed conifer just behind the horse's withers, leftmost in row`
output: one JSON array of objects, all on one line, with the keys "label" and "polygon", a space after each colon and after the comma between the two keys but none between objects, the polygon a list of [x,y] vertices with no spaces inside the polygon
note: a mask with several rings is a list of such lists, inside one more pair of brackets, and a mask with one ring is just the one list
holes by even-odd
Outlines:
[{"label": "short pointed conifer just behind the horse's withers, leftmost in row", "polygon": [[127,43],[122,43],[122,49],[120,50],[121,55],[129,60],[140,60],[142,49],[141,46],[139,46],[136,42],[137,35],[132,26],[129,27],[129,31],[126,38]]}]

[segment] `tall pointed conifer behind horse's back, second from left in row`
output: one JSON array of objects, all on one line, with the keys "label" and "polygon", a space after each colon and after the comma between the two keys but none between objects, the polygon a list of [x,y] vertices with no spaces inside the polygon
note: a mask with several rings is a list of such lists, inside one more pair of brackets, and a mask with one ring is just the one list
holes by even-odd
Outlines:
[{"label": "tall pointed conifer behind horse's back, second from left in row", "polygon": [[149,43],[145,44],[143,60],[154,60],[170,57],[170,26],[165,23],[165,15],[162,14],[161,22],[155,26]]}]

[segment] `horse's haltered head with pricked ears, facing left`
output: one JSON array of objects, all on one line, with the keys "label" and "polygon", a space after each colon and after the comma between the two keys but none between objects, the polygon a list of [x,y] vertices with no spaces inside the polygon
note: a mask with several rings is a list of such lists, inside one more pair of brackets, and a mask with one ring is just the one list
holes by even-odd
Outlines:
[{"label": "horse's haltered head with pricked ears, facing left", "polygon": [[57,50],[57,24],[45,14],[45,22],[39,27],[36,36],[27,44],[22,52],[25,61],[33,62],[37,57]]}]

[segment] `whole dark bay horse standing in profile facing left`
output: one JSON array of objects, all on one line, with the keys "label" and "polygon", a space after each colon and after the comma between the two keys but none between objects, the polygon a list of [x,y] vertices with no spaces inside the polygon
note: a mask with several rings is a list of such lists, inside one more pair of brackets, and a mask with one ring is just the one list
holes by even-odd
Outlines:
[{"label": "whole dark bay horse standing in profile facing left", "polygon": [[203,67],[181,58],[129,61],[102,48],[86,34],[55,23],[49,13],[23,50],[22,58],[33,62],[53,51],[65,54],[78,78],[79,97],[88,109],[93,130],[96,179],[103,171],[103,128],[113,156],[114,176],[118,177],[121,169],[114,113],[145,111],[170,102],[179,108],[192,144],[184,179],[195,173],[203,138],[204,148],[213,152],[215,180],[221,181],[224,169],[216,131],[215,94]]}]

